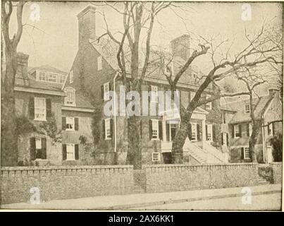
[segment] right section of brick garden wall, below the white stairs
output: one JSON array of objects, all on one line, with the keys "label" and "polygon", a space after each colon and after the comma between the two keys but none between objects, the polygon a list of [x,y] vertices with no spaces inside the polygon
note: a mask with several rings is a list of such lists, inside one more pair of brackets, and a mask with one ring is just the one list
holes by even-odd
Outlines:
[{"label": "right section of brick garden wall, below the white stairs", "polygon": [[252,163],[143,167],[147,193],[258,185],[258,167]]}]

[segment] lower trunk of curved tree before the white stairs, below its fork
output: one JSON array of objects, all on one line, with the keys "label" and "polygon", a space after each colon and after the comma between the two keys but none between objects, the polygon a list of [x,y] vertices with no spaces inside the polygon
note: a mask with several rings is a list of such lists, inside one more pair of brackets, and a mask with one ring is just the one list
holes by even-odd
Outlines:
[{"label": "lower trunk of curved tree before the white stairs, below its fork", "polygon": [[183,163],[183,145],[187,138],[188,124],[190,123],[190,117],[192,113],[187,112],[185,107],[180,105],[180,129],[173,139],[172,145],[172,163],[181,164]]}]

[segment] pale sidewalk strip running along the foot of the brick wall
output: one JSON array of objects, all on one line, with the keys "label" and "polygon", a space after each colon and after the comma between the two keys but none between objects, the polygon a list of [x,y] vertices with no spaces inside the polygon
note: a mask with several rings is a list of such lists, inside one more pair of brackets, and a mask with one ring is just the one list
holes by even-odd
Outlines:
[{"label": "pale sidewalk strip running along the foot of the brick wall", "polygon": [[[268,184],[249,187],[252,195],[273,194],[281,192],[281,184]],[[33,210],[126,210],[143,206],[156,206],[168,203],[209,200],[244,196],[242,187],[227,189],[206,189],[196,191],[174,191],[156,194],[129,194],[121,196],[97,196],[89,198],[72,198],[53,200],[40,204],[11,203],[1,206],[2,209]]]}]

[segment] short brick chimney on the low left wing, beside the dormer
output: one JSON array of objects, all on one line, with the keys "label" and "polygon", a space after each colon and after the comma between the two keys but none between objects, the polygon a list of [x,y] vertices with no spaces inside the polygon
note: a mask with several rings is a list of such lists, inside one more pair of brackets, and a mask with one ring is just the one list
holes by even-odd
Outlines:
[{"label": "short brick chimney on the low left wing, beside the dormer", "polygon": [[16,85],[29,85],[29,78],[27,77],[27,61],[29,55],[24,54],[23,52],[17,53],[17,72],[16,72]]}]

